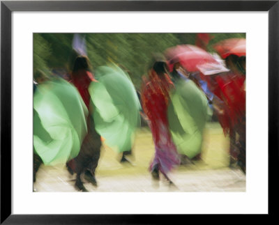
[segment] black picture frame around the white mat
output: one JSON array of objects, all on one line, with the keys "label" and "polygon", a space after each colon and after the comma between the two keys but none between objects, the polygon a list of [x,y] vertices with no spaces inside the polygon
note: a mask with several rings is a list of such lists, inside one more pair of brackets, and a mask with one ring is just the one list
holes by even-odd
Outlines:
[{"label": "black picture frame around the white mat", "polygon": [[[276,1],[1,1],[1,224],[165,224],[169,215],[11,214],[11,13],[13,11],[268,11],[269,215],[278,199],[279,2]],[[257,98],[255,97],[255,100]],[[176,215],[176,217],[179,217]],[[180,216],[181,217],[181,216]],[[185,219],[185,218],[182,218]],[[175,224],[175,223],[174,223]]]}]

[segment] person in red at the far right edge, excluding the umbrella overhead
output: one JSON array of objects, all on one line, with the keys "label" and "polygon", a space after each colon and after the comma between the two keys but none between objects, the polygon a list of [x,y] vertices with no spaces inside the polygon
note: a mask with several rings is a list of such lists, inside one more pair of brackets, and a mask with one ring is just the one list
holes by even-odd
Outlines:
[{"label": "person in red at the far right edge, excluding the umbrella overhead", "polygon": [[[246,172],[246,91],[245,56],[229,54],[225,63],[229,72],[206,74],[200,68],[202,78],[214,93],[213,108],[224,133],[229,134],[229,166],[239,164]],[[238,138],[239,137],[239,138]]]}]

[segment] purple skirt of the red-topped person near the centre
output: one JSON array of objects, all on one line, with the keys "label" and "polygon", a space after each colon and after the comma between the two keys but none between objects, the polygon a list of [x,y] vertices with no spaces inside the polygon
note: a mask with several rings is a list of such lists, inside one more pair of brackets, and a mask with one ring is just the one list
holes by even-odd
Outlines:
[{"label": "purple skirt of the red-topped person near the centre", "polygon": [[[153,130],[151,128],[153,133]],[[174,166],[180,163],[179,155],[176,151],[176,146],[174,145],[172,138],[170,137],[169,130],[164,123],[160,123],[159,131],[160,135],[159,141],[154,141],[155,144],[155,157],[153,162],[151,162],[149,170],[152,171],[155,166],[165,176],[167,173],[174,168]]]}]

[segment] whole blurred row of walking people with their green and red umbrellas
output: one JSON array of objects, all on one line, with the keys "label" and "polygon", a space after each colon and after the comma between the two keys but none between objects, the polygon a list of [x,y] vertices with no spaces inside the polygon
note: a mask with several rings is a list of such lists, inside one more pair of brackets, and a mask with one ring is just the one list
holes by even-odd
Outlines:
[{"label": "whole blurred row of walking people with their green and red umbrellas", "polygon": [[67,68],[33,74],[33,181],[40,164],[64,164],[86,192],[82,178],[98,185],[101,147],[130,164],[137,127],[146,125],[155,146],[151,178],[174,185],[176,166],[201,160],[208,121],[229,136],[229,166],[246,173],[246,39],[221,40],[209,53],[210,38],[199,33],[195,45],[151,53],[137,89],[124,64],[94,68],[75,34]]}]

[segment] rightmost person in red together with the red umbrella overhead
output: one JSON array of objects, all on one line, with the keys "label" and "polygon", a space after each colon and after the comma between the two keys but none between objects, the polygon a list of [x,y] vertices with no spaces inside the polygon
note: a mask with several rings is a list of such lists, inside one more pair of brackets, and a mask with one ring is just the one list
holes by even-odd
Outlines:
[{"label": "rightmost person in red together with the red umbrella overhead", "polygon": [[[213,45],[216,52],[225,59],[232,70],[218,82],[229,108],[231,141],[231,164],[237,161],[246,173],[246,38],[229,38]],[[236,134],[239,139],[236,140]]]}]

